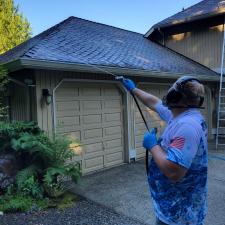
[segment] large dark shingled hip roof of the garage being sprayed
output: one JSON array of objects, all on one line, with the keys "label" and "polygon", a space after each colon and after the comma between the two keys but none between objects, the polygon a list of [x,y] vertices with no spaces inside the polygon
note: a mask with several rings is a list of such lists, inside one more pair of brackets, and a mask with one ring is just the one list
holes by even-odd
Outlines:
[{"label": "large dark shingled hip roof of the garage being sprayed", "polygon": [[15,60],[215,76],[212,70],[162,47],[142,34],[69,17],[0,56]]}]

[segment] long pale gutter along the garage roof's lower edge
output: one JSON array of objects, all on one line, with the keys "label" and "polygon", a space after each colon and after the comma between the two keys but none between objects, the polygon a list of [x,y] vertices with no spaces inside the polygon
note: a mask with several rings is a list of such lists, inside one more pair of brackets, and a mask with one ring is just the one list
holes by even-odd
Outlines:
[{"label": "long pale gutter along the garage roof's lower edge", "polygon": [[18,59],[15,61],[4,64],[10,72],[17,71],[19,69],[46,69],[46,70],[61,70],[61,71],[76,71],[76,72],[88,72],[88,73],[99,73],[106,74],[111,73],[114,75],[136,76],[136,77],[151,77],[151,78],[174,78],[177,79],[181,76],[195,76],[202,81],[219,81],[220,77],[200,74],[183,74],[183,73],[171,73],[154,70],[139,70],[121,67],[108,67],[90,64],[78,64],[68,62],[56,62],[56,61],[45,61],[45,60],[34,60],[34,59]]}]

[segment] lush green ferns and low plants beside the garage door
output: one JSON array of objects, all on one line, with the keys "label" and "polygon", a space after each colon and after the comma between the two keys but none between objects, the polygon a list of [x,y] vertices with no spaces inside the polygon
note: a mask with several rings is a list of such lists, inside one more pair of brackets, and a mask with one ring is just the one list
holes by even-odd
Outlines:
[{"label": "lush green ferns and low plants beside the garage door", "polygon": [[0,189],[0,211],[66,206],[73,201],[63,178],[74,182],[80,178],[80,165],[72,161],[74,140],[51,138],[34,122],[1,122],[0,146],[0,155],[11,154],[16,159],[13,179]]}]

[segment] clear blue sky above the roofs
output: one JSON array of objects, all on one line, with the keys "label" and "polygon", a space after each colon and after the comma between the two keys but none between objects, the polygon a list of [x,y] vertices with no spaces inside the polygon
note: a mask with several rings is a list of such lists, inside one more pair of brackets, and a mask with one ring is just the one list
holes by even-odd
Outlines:
[{"label": "clear blue sky above the roofs", "polygon": [[155,23],[200,0],[14,0],[36,35],[69,16],[146,33]]}]

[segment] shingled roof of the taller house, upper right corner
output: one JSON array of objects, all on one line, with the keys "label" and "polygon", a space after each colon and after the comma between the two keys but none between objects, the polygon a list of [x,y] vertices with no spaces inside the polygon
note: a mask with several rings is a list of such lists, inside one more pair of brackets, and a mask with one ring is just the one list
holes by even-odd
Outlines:
[{"label": "shingled roof of the taller house, upper right corner", "polygon": [[187,23],[199,19],[208,18],[210,16],[222,15],[224,13],[225,13],[224,0],[203,0],[155,24],[146,33],[146,36],[151,34],[151,32],[156,28],[163,28],[172,25]]}]

